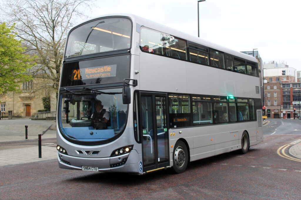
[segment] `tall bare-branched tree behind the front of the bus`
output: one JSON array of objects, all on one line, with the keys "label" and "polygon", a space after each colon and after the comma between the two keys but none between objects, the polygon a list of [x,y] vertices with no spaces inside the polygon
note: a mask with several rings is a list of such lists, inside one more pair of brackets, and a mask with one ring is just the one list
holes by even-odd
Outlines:
[{"label": "tall bare-branched tree behind the front of the bus", "polygon": [[2,7],[2,18],[15,23],[17,37],[30,54],[36,55],[34,78],[45,80],[58,95],[60,69],[67,31],[74,18],[87,17],[91,0],[8,0]]}]

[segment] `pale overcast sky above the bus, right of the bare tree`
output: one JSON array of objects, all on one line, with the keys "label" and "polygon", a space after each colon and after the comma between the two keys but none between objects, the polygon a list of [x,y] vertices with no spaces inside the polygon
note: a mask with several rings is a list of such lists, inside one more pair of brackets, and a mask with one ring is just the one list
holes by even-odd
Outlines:
[{"label": "pale overcast sky above the bus, right of the bare tree", "polygon": [[[197,0],[98,0],[89,16],[132,13],[197,36]],[[236,51],[258,49],[263,61],[301,70],[300,1],[200,2],[200,37]]]}]

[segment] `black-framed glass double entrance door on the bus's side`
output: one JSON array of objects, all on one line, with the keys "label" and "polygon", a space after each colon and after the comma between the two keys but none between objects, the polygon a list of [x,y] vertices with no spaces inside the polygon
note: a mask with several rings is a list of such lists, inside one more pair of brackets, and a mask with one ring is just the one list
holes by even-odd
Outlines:
[{"label": "black-framed glass double entrance door on the bus's side", "polygon": [[140,96],[143,172],[169,166],[166,96],[157,93],[141,93]]}]

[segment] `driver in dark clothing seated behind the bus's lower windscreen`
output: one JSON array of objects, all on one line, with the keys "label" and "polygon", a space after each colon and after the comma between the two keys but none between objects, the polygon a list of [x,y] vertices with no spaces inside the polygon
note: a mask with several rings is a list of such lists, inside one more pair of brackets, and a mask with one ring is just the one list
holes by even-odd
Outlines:
[{"label": "driver in dark clothing seated behind the bus's lower windscreen", "polygon": [[93,127],[95,129],[107,129],[107,123],[110,119],[109,112],[104,109],[101,101],[98,100],[95,103],[95,111],[91,115],[93,121]]}]

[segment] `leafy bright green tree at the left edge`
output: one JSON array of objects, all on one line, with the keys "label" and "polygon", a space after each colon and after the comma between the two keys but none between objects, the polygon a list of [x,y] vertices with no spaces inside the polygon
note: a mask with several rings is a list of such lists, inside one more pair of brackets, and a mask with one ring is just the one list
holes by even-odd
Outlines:
[{"label": "leafy bright green tree at the left edge", "polygon": [[19,91],[20,83],[31,79],[28,70],[34,65],[25,47],[16,39],[14,26],[0,24],[0,94]]}]

